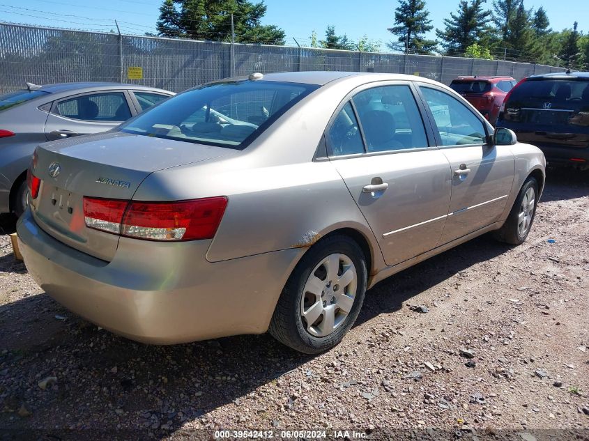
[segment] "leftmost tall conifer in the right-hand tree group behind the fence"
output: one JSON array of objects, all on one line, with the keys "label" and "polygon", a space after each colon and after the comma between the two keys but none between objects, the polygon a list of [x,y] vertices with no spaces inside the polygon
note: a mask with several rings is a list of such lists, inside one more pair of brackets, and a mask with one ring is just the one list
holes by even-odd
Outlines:
[{"label": "leftmost tall conifer in the right-hand tree group behind the fence", "polygon": [[397,42],[400,44],[388,43],[391,49],[404,47],[405,52],[415,54],[431,54],[436,49],[437,43],[424,37],[426,32],[434,29],[424,0],[399,0],[399,6],[395,9],[395,25],[388,31],[398,36]]}]

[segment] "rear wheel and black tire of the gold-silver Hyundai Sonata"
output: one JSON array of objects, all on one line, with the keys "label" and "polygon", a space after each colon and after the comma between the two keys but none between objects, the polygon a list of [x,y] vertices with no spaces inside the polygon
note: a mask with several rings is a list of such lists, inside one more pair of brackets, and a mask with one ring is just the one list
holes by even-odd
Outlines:
[{"label": "rear wheel and black tire of the gold-silver Hyundai Sonata", "polygon": [[354,240],[345,235],[321,240],[286,282],[270,334],[305,354],[333,348],[358,318],[366,283],[366,258]]}]

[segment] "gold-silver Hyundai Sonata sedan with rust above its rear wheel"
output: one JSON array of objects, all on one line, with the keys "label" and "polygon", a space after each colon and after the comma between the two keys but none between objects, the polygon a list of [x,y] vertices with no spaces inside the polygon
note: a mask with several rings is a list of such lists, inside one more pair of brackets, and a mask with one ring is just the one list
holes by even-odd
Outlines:
[{"label": "gold-silver Hyundai Sonata sedan with rust above its rear wheel", "polygon": [[38,147],[17,232],[37,283],[107,330],[319,353],[385,277],[489,231],[526,240],[544,165],[429,79],[254,74]]}]

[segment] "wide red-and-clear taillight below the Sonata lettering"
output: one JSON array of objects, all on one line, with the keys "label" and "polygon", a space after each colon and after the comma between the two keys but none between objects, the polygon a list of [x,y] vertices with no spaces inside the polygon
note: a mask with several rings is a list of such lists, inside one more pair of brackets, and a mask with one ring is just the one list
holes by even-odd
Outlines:
[{"label": "wide red-and-clear taillight below the Sonata lettering", "polygon": [[136,202],[84,197],[86,226],[146,240],[213,238],[227,198],[178,202]]}]

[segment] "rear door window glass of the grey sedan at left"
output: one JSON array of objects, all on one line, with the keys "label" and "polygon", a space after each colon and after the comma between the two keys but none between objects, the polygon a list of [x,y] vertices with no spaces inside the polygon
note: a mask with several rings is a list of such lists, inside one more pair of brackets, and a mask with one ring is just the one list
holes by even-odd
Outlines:
[{"label": "rear door window glass of the grey sedan at left", "polygon": [[126,121],[131,117],[122,92],[94,93],[63,100],[57,103],[57,113],[65,118],[96,122]]}]

